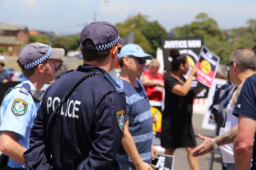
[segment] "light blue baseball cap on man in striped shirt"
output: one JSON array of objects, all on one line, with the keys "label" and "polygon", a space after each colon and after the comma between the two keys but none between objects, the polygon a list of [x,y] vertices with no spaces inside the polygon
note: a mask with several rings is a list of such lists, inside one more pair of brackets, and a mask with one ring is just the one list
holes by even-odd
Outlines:
[{"label": "light blue baseball cap on man in striped shirt", "polygon": [[137,44],[124,45],[121,49],[121,52],[118,54],[118,58],[121,59],[124,56],[145,57],[148,60],[153,58],[152,55],[146,54]]}]

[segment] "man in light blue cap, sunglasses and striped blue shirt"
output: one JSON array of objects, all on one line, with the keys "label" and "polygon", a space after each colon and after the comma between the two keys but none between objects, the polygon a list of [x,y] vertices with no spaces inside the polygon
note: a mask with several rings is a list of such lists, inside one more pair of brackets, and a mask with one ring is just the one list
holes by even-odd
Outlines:
[{"label": "man in light blue cap, sunglasses and striped blue shirt", "polygon": [[139,80],[145,67],[146,59],[153,57],[146,54],[137,44],[127,44],[118,55],[121,67],[117,83],[126,95],[126,115],[122,145],[117,159],[122,169],[153,169],[151,160],[157,155],[152,145],[152,118],[150,103],[145,89]]}]

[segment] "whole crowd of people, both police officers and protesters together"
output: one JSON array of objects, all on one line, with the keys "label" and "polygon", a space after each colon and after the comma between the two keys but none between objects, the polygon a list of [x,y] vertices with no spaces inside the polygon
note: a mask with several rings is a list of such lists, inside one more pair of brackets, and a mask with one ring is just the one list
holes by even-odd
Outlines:
[{"label": "whole crowd of people, both police officers and protesters together", "polygon": [[[164,102],[164,154],[185,148],[190,168],[200,169],[198,156],[219,146],[226,169],[256,168],[251,49],[237,48],[230,56],[226,68],[236,89],[227,96],[225,122],[214,138],[198,134],[203,140],[198,146],[192,114],[201,88],[192,88],[197,68],[188,72],[186,55],[170,50],[171,69],[160,74],[157,59],[137,44],[124,45],[116,27],[105,21],[83,28],[80,51],[83,65],[75,70],[62,64],[62,48],[36,42],[20,51],[24,78],[8,90],[0,109],[0,169],[153,169],[158,151],[150,101]],[[114,80],[109,72],[117,60],[121,72]],[[151,60],[147,67],[146,60]],[[4,66],[0,62],[2,83],[9,79]]]}]

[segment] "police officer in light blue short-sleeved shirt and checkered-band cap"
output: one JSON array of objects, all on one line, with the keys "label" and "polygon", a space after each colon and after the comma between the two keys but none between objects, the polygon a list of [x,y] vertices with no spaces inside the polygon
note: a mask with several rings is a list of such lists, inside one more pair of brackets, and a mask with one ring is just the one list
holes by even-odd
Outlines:
[{"label": "police officer in light blue short-sleeved shirt and checkered-band cap", "polygon": [[63,48],[40,43],[28,44],[20,51],[17,63],[24,78],[5,96],[0,110],[0,150],[9,156],[4,169],[26,168],[23,153],[29,148],[33,120],[40,105],[39,90],[53,80],[54,59],[63,55]]}]

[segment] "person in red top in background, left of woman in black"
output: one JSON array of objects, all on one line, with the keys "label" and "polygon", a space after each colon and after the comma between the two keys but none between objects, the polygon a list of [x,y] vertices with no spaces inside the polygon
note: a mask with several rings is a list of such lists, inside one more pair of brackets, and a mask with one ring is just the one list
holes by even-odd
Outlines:
[{"label": "person in red top in background, left of woman in black", "polygon": [[163,101],[164,78],[158,72],[160,63],[157,59],[152,59],[148,69],[143,72],[143,85],[146,90],[148,100]]}]

